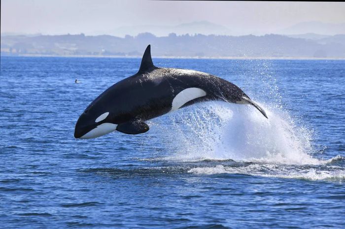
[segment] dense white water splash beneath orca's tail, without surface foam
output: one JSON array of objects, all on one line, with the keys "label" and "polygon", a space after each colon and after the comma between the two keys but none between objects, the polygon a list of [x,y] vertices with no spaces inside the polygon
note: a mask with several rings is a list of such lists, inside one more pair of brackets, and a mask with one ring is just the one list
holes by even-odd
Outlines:
[{"label": "dense white water splash beneath orca's tail, without surface foam", "polygon": [[[262,105],[262,104],[260,104]],[[263,105],[269,119],[248,105],[207,102],[176,112],[160,125],[176,161],[226,160],[325,164],[311,157],[311,131],[287,112]],[[166,126],[166,130],[164,129]]]}]

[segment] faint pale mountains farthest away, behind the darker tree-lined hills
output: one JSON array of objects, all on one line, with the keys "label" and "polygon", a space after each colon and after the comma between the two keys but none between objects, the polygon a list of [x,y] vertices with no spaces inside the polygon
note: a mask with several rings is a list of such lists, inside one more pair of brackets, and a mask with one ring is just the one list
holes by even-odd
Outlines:
[{"label": "faint pale mountains farthest away, behind the darker tree-lined hills", "polygon": [[[224,22],[226,23],[226,22]],[[238,28],[230,26],[226,27],[224,25],[215,24],[209,21],[196,21],[190,23],[183,23],[178,25],[136,25],[136,26],[122,26],[108,31],[94,31],[89,35],[100,35],[109,34],[113,36],[124,37],[126,34],[131,36],[136,36],[139,33],[152,33],[156,36],[168,36],[170,33],[176,33],[177,35],[194,35],[194,34],[204,34],[204,35],[243,35],[243,33],[254,35],[263,35],[265,30],[262,28],[259,31],[250,30],[248,28]],[[251,31],[251,32],[250,32]],[[285,29],[274,29],[270,30],[275,34],[295,36],[298,38],[306,39],[319,39],[324,38],[322,36],[329,36],[335,34],[345,33],[345,23],[335,24],[335,23],[323,23],[319,21],[311,22],[301,22],[292,25]],[[267,33],[267,31],[266,31]],[[319,35],[323,34],[323,35]],[[312,37],[312,38],[311,38]]]}]

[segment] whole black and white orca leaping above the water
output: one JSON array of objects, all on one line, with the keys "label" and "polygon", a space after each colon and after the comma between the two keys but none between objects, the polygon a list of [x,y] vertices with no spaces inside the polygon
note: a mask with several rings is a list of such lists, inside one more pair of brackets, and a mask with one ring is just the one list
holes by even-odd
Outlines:
[{"label": "whole black and white orca leaping above the water", "polygon": [[148,45],[139,71],[115,83],[91,102],[75,125],[74,137],[95,138],[115,130],[144,133],[149,130],[146,120],[209,100],[250,104],[268,118],[233,83],[205,72],[156,67]]}]

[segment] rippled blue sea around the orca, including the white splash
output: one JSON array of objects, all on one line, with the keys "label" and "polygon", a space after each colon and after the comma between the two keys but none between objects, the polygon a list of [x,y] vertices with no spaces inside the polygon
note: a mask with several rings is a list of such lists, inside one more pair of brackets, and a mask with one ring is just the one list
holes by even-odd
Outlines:
[{"label": "rippled blue sea around the orca, including the white splash", "polygon": [[1,228],[345,228],[345,61],[154,59],[235,83],[269,119],[206,102],[75,140],[139,63],[1,57]]}]

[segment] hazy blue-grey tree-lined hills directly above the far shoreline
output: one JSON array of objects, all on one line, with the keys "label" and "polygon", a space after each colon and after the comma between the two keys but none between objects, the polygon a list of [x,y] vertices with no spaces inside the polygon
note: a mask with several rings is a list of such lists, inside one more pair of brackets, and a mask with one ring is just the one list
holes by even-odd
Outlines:
[{"label": "hazy blue-grey tree-lined hills directly above the far shoreline", "polygon": [[141,56],[147,44],[154,56],[201,58],[345,58],[345,35],[320,39],[269,34],[176,35],[151,33],[124,38],[98,35],[1,36],[1,55]]}]

